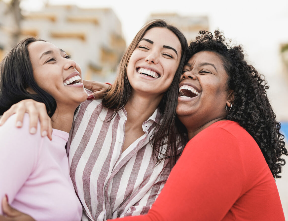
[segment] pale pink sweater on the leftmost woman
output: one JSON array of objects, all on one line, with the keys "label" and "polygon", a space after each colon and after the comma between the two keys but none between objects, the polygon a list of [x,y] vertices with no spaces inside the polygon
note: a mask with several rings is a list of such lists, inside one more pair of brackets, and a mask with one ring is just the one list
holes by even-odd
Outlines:
[{"label": "pale pink sweater on the leftmost woman", "polygon": [[7,194],[13,207],[37,221],[79,221],[82,206],[64,148],[69,134],[53,129],[50,141],[39,129],[29,134],[28,114],[22,128],[16,128],[15,121],[13,115],[0,127],[0,199]]}]

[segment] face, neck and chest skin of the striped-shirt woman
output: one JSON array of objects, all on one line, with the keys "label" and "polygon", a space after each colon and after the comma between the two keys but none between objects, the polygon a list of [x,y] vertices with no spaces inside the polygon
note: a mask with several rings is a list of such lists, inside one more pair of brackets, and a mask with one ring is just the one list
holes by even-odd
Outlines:
[{"label": "face, neck and chest skin of the striped-shirt woman", "polygon": [[[144,134],[142,124],[154,113],[171,85],[180,59],[180,41],[166,28],[149,29],[134,49],[127,66],[132,91],[125,105],[128,118],[122,152]],[[138,68],[154,71],[158,78],[140,74]]]}]

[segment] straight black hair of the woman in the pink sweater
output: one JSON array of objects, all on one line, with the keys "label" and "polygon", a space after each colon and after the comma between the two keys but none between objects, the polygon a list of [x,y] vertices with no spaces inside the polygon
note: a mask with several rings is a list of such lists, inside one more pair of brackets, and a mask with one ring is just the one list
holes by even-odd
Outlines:
[{"label": "straight black hair of the woman in the pink sweater", "polygon": [[[24,99],[44,103],[49,117],[52,117],[56,110],[55,99],[41,89],[33,77],[28,45],[35,41],[44,40],[29,37],[20,41],[0,63],[0,115]],[[29,88],[35,94],[27,92]]]}]

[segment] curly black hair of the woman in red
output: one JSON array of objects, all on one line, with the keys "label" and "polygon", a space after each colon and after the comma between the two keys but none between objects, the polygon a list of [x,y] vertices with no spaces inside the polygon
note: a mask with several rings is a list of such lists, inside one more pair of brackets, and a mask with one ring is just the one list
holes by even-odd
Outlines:
[{"label": "curly black hair of the woman in red", "polygon": [[280,133],[281,124],[276,121],[267,97],[269,86],[264,76],[244,60],[240,45],[230,46],[231,41],[226,41],[219,30],[214,35],[200,31],[196,41],[192,41],[187,49],[186,62],[200,51],[211,51],[219,55],[229,76],[228,87],[234,90],[234,102],[226,119],[238,122],[247,130],[259,145],[274,178],[280,178],[278,174],[285,165],[281,155],[288,153],[284,136]]}]

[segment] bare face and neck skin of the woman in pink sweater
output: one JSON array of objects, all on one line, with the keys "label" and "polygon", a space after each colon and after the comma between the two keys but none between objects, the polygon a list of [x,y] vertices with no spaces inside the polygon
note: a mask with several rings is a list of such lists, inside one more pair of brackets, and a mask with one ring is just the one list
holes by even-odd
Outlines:
[{"label": "bare face and neck skin of the woman in pink sweater", "polygon": [[52,127],[69,133],[74,111],[87,99],[87,93],[82,79],[79,85],[64,85],[63,81],[73,73],[81,77],[81,68],[64,51],[49,42],[33,42],[28,45],[28,51],[36,83],[57,103],[51,118]]}]

